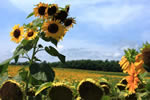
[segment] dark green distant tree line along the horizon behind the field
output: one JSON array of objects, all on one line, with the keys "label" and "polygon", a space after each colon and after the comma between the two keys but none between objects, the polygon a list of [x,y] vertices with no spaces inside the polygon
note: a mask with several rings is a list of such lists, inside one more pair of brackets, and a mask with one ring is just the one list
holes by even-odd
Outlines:
[{"label": "dark green distant tree line along the horizon behind the field", "polygon": [[[72,69],[85,69],[85,70],[97,70],[97,71],[107,71],[107,72],[122,72],[122,69],[119,65],[119,61],[115,60],[72,60],[66,61],[66,63],[61,62],[46,62],[51,67],[57,68],[72,68]],[[11,63],[11,65],[28,65],[28,62],[19,62],[19,63]],[[150,68],[144,66],[145,69],[150,72]]]}]

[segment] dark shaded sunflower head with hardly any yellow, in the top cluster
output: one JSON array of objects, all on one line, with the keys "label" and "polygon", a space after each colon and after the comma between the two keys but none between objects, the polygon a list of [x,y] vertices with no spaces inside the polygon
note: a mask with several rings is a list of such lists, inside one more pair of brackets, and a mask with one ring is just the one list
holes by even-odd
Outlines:
[{"label": "dark shaded sunflower head with hardly any yellow, in the top cluster", "polygon": [[67,18],[68,13],[64,10],[60,10],[56,16],[54,17],[54,19],[56,20],[60,20],[61,22],[64,22],[64,20]]}]

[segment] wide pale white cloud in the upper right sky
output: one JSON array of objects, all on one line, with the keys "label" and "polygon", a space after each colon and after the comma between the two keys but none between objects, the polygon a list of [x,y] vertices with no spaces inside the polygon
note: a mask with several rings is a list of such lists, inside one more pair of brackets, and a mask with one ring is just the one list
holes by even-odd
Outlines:
[{"label": "wide pale white cloud in the upper right sky", "polygon": [[83,9],[79,19],[108,28],[121,25],[138,18],[143,10],[141,5],[112,5],[104,7],[88,7]]}]

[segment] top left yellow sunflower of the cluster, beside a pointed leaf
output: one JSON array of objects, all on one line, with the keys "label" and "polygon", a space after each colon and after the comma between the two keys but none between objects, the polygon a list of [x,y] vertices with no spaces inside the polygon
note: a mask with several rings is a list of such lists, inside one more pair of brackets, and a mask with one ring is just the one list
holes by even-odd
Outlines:
[{"label": "top left yellow sunflower of the cluster, beside a pointed leaf", "polygon": [[47,7],[48,7],[48,4],[40,2],[37,5],[37,7],[34,8],[34,15],[35,15],[35,17],[36,16],[40,16],[40,18],[44,17],[45,16],[45,10],[46,10]]}]

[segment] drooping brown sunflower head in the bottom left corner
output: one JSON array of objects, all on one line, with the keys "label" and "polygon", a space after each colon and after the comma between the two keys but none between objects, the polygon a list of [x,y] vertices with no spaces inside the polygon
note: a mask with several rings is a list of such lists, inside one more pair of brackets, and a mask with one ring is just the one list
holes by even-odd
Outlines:
[{"label": "drooping brown sunflower head in the bottom left corner", "polygon": [[0,88],[0,98],[2,100],[23,100],[20,84],[14,80],[5,81]]}]

